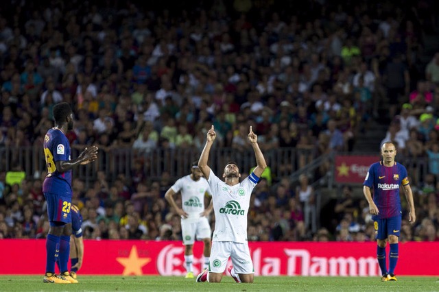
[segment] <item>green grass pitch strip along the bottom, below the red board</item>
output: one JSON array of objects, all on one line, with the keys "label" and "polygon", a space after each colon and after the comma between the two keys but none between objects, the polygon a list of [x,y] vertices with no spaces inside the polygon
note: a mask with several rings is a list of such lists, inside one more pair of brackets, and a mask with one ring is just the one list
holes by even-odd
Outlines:
[{"label": "green grass pitch strip along the bottom, below the red board", "polygon": [[0,276],[0,291],[439,291],[439,277],[400,276],[397,282],[378,277],[255,277],[253,284],[237,284],[165,276],[80,276],[79,284],[45,284],[43,276]]}]

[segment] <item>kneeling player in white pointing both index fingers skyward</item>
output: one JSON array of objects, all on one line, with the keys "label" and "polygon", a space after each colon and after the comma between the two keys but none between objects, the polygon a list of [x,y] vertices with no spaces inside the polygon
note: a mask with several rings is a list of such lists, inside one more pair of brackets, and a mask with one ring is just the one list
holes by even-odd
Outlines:
[{"label": "kneeling player in white pointing both index fingers skyward", "polygon": [[247,178],[239,182],[241,177],[239,168],[235,162],[229,162],[222,174],[224,181],[220,180],[207,165],[209,151],[215,138],[216,133],[212,125],[211,130],[207,132],[206,145],[198,161],[198,167],[211,186],[215,230],[209,269],[198,275],[197,282],[221,282],[230,257],[233,267],[229,267],[228,271],[233,279],[239,283],[252,283],[254,271],[248,248],[247,215],[253,188],[259,182],[267,164],[257,143],[257,135],[253,133],[252,126],[250,126],[248,140],[252,145],[257,167]]}]

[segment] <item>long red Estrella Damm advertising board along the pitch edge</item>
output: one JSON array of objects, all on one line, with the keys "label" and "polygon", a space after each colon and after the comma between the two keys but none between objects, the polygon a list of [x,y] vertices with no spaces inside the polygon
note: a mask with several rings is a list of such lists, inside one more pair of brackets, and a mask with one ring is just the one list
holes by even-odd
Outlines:
[{"label": "long red Estrella Damm advertising board along the pitch edge", "polygon": [[[43,274],[45,244],[45,240],[38,239],[0,240],[0,274]],[[185,274],[181,242],[85,240],[84,245],[84,264],[79,271],[82,274]],[[379,276],[377,244],[372,242],[250,242],[249,245],[255,276]],[[195,273],[200,271],[201,255],[202,243],[197,242]],[[397,273],[439,276],[438,258],[439,243],[400,243]]]}]

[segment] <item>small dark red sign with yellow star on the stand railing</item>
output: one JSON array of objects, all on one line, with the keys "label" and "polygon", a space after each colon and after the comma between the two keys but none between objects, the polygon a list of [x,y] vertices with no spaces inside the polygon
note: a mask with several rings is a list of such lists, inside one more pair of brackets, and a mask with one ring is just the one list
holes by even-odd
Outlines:
[{"label": "small dark red sign with yellow star on the stand railing", "polygon": [[370,165],[379,160],[379,156],[336,155],[335,182],[338,184],[362,184]]}]

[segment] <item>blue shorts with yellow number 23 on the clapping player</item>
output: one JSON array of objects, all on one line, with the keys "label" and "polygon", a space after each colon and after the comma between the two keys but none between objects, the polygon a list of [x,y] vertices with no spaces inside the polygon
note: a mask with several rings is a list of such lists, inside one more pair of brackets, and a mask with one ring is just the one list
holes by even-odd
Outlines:
[{"label": "blue shorts with yellow number 23 on the clapping player", "polygon": [[44,193],[47,202],[49,222],[71,223],[71,195]]}]

